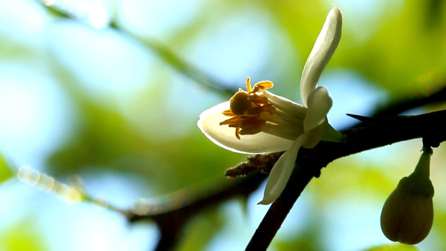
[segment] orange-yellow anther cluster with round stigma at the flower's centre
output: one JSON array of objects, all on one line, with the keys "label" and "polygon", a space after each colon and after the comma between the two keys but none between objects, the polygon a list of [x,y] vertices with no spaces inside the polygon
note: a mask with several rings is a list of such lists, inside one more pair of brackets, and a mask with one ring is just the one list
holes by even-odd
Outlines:
[{"label": "orange-yellow anther cluster with round stigma at the flower's centre", "polygon": [[270,81],[261,81],[251,87],[251,79],[246,79],[246,89],[238,89],[229,100],[229,108],[224,111],[225,116],[231,116],[231,119],[226,119],[220,122],[220,126],[227,125],[231,128],[236,128],[236,137],[240,139],[240,135],[254,135],[261,132],[261,126],[266,123],[266,120],[260,118],[262,112],[272,114],[275,109],[273,105],[268,102],[268,98],[263,96],[264,89],[270,89],[274,84]]}]

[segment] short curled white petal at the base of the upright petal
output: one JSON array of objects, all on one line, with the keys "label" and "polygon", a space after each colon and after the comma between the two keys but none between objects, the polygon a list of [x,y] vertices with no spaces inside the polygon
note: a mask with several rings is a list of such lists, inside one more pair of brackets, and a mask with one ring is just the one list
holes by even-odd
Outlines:
[{"label": "short curled white petal at the base of the upright petal", "polygon": [[304,119],[304,131],[308,132],[327,121],[327,114],[333,105],[328,90],[319,86],[308,97],[307,116]]}]

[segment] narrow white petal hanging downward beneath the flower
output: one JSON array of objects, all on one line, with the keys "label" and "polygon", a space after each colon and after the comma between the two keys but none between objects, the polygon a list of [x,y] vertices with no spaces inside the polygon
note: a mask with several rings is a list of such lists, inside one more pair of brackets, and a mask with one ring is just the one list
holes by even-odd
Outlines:
[{"label": "narrow white petal hanging downward beneath the flower", "polygon": [[268,181],[266,181],[263,199],[258,204],[268,205],[274,202],[284,190],[286,183],[294,169],[295,159],[298,157],[300,146],[307,141],[307,135],[302,134],[272,167]]}]

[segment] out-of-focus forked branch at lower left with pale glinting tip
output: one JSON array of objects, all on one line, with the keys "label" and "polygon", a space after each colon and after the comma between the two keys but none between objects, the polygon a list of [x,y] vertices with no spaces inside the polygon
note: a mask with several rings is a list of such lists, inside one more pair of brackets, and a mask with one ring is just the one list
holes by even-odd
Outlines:
[{"label": "out-of-focus forked branch at lower left with pale glinting tip", "polygon": [[133,208],[121,209],[110,204],[107,198],[95,199],[89,195],[79,180],[67,185],[31,167],[21,167],[17,176],[20,181],[43,192],[53,193],[70,204],[80,201],[93,203],[120,213],[131,223],[152,220],[157,224],[161,236],[156,250],[172,250],[178,243],[183,228],[194,215],[233,197],[241,197],[246,201],[265,178],[262,174],[252,174],[231,184],[202,184],[195,189],[187,188],[161,198],[139,199]]}]

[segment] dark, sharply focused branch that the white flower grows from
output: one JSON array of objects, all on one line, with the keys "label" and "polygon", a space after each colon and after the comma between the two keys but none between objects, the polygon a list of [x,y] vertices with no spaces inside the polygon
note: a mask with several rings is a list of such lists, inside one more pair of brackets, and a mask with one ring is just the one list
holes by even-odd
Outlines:
[{"label": "dark, sharply focused branch that the white flower grows from", "polygon": [[[374,126],[346,130],[345,142],[321,142],[314,149],[301,149],[296,168],[282,195],[275,201],[246,250],[266,250],[279,230],[286,215],[313,177],[321,174],[328,163],[347,155],[380,146],[423,138],[424,143],[438,146],[446,140],[446,110],[419,116],[399,116],[376,120]],[[421,147],[421,146],[420,146]]]}]

